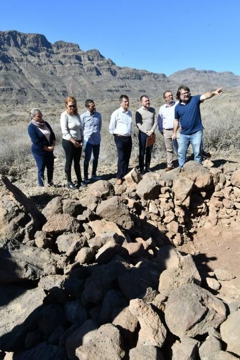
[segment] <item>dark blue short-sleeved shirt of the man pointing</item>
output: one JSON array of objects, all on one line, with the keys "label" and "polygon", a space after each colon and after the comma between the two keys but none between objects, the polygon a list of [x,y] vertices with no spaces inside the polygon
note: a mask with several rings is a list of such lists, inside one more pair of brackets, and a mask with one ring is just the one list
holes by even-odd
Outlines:
[{"label": "dark blue short-sleeved shirt of the man pointing", "polygon": [[175,107],[175,119],[180,120],[181,134],[191,135],[202,130],[200,95],[191,96],[186,105],[179,102]]}]

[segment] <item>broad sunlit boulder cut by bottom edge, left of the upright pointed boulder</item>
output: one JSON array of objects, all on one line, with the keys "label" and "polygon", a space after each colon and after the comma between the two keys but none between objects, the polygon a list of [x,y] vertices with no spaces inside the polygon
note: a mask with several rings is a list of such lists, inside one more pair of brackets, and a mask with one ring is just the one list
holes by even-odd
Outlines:
[{"label": "broad sunlit boulder cut by bottom edge, left of the upright pointed boulder", "polygon": [[76,350],[81,360],[120,360],[124,357],[120,331],[112,324],[102,325],[86,345]]}]

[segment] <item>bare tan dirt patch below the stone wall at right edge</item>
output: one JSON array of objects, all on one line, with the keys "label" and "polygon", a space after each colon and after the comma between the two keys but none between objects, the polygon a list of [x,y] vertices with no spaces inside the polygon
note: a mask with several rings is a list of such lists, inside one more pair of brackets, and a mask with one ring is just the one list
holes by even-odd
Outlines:
[{"label": "bare tan dirt patch below the stone wall at right edge", "polygon": [[224,228],[201,227],[196,230],[193,241],[188,241],[179,250],[193,255],[201,277],[212,277],[216,268],[230,271],[235,278],[221,281],[218,291],[229,302],[240,302],[240,224]]}]

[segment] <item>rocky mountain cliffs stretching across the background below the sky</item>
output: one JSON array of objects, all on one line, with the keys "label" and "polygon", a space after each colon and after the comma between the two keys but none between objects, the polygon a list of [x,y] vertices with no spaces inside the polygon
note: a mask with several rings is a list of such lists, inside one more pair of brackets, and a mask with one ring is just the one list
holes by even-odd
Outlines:
[{"label": "rocky mountain cliffs stretching across the background below the sky", "polygon": [[[194,76],[193,76],[194,74]],[[232,73],[178,71],[169,78],[105,59],[97,49],[83,51],[77,44],[49,43],[42,34],[0,31],[0,99],[7,103],[56,102],[68,95],[77,99],[116,98],[122,93],[161,96],[168,88],[188,83],[195,91],[215,86],[240,86]],[[204,85],[204,86],[203,86]]]}]

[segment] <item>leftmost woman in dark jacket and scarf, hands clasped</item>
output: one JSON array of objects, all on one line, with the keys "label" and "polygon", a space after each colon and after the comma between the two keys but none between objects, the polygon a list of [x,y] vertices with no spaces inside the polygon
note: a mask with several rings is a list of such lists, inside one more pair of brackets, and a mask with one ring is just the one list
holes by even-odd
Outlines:
[{"label": "leftmost woman in dark jacket and scarf, hands clasped", "polygon": [[47,182],[53,185],[53,150],[56,143],[55,134],[49,123],[44,121],[39,109],[31,109],[31,120],[28,126],[28,135],[32,140],[31,151],[38,166],[39,186],[44,186],[44,170],[47,168]]}]

